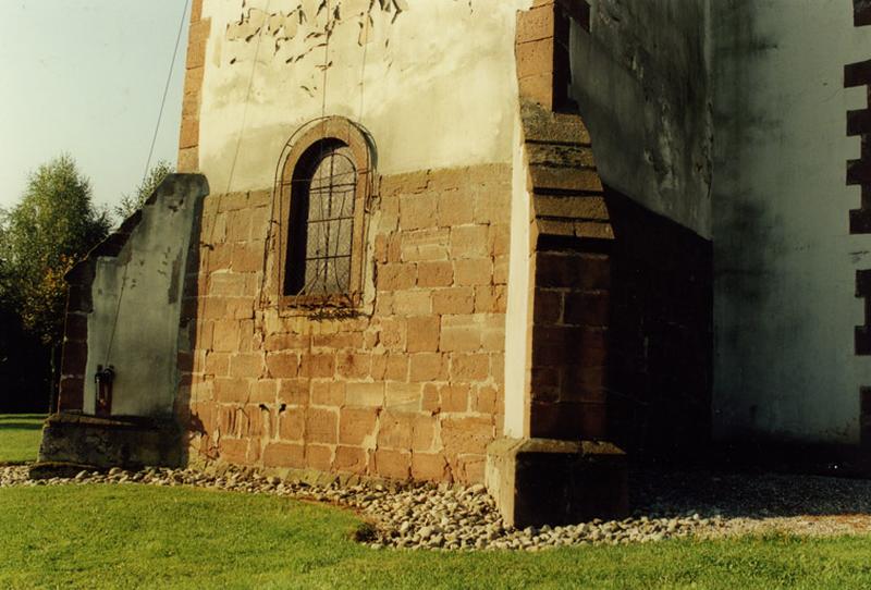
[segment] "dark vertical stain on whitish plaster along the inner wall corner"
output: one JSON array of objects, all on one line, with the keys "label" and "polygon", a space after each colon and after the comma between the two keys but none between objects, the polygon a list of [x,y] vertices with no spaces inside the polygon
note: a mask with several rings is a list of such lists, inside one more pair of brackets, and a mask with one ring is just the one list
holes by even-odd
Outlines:
[{"label": "dark vertical stain on whitish plaster along the inner wall corner", "polygon": [[[753,410],[760,398],[773,401],[757,376],[771,374],[760,346],[780,343],[781,354],[812,337],[803,299],[790,297],[795,286],[780,275],[784,253],[795,239],[784,232],[771,196],[752,179],[775,173],[765,168],[760,153],[771,155],[788,130],[780,109],[758,100],[778,49],[774,33],[764,28],[757,0],[723,0],[711,3],[714,126],[712,224],[714,251],[714,349],[719,402],[715,423],[729,437],[755,435],[771,428],[768,406]],[[786,279],[786,280],[785,280]],[[772,314],[773,312],[773,314]],[[788,383],[794,376],[772,380]]]}]

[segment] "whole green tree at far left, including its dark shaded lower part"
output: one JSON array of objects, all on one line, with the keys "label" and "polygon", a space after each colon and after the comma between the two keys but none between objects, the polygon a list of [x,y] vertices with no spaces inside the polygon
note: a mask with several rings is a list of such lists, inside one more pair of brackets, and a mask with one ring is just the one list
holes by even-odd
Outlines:
[{"label": "whole green tree at far left, including its dark shaded lower part", "polygon": [[[5,361],[0,366],[0,388],[10,395],[17,392],[45,401],[57,389],[64,274],[110,228],[109,212],[94,206],[90,182],[68,155],[40,165],[30,174],[21,201],[10,211],[0,210],[0,360]],[[42,355],[32,352],[40,347]],[[26,364],[19,360],[25,351]],[[42,383],[38,391],[36,383]],[[29,392],[22,391],[24,384]]]}]

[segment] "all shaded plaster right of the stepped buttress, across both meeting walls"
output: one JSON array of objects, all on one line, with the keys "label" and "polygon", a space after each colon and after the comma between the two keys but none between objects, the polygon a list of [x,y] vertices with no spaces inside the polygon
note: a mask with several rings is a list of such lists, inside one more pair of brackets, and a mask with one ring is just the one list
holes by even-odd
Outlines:
[{"label": "all shaded plaster right of the stepped buttress, across both meeting walls", "polygon": [[844,64],[868,59],[852,5],[592,3],[572,29],[572,96],[603,182],[714,244],[713,423],[721,438],[859,441],[863,322],[849,235],[859,140]]}]

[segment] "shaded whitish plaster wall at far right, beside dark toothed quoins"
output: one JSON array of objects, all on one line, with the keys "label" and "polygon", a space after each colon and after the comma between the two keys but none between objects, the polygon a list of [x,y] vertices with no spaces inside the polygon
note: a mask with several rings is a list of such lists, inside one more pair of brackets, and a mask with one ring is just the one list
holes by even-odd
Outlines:
[{"label": "shaded whitish plaster wall at far right, beside dark toothed quoins", "polygon": [[857,443],[871,362],[854,354],[855,276],[871,237],[848,233],[859,140],[845,124],[867,96],[843,72],[871,37],[848,1],[711,7],[715,434]]}]

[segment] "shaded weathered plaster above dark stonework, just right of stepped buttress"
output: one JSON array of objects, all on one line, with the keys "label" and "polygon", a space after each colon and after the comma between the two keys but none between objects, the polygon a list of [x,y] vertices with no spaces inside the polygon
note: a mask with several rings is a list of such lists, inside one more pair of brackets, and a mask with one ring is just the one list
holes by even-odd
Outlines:
[{"label": "shaded weathered plaster above dark stonework, just right of stepped buttress", "polygon": [[596,0],[572,21],[569,95],[602,181],[711,236],[708,10],[703,0]]}]

